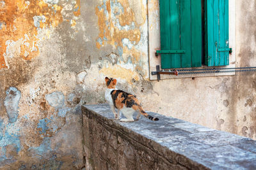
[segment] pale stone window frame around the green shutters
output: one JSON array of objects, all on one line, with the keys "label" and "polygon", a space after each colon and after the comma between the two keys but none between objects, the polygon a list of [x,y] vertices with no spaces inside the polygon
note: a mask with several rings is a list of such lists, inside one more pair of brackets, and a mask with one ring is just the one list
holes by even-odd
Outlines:
[{"label": "pale stone window frame around the green shutters", "polygon": [[[160,15],[159,15],[159,1],[152,0],[148,1],[148,57],[149,57],[149,71],[150,80],[157,80],[156,75],[152,75],[152,71],[156,71],[156,66],[161,66],[161,54],[156,56],[156,50],[161,50],[161,36],[160,36]],[[228,0],[228,13],[229,13],[229,47],[232,48],[232,54],[229,55],[228,66],[211,66],[211,67],[236,67],[236,23],[235,23],[235,0]],[[211,68],[210,66],[201,67],[188,67],[195,69]],[[177,68],[179,69],[179,68]],[[186,68],[180,68],[186,69]],[[162,75],[161,79],[172,79],[172,78],[188,78],[188,77],[199,77],[199,76],[225,76],[234,75],[235,73],[211,73],[211,74],[187,74],[187,75]]]}]

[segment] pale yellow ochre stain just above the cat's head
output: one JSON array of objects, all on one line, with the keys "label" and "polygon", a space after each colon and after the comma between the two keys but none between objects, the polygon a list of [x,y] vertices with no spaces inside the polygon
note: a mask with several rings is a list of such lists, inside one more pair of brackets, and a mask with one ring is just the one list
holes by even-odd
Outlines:
[{"label": "pale yellow ochre stain just above the cat's head", "polygon": [[113,78],[121,78],[123,80],[126,80],[128,83],[132,83],[133,78],[136,81],[140,80],[140,76],[138,75],[138,73],[136,73],[136,71],[132,71],[131,69],[126,69],[118,65],[102,67],[99,73]]}]

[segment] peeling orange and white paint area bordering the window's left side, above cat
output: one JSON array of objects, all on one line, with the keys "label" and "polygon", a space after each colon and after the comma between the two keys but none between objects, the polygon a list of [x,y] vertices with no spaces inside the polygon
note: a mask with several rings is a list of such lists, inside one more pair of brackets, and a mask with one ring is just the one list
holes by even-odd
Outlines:
[{"label": "peeling orange and white paint area bordering the window's left side, above cat", "polygon": [[100,33],[96,46],[97,48],[106,44],[115,46],[124,62],[130,57],[132,64],[139,64],[138,69],[140,69],[143,66],[141,58],[146,57],[143,48],[140,49],[140,43],[145,39],[141,33],[141,25],[145,23],[147,13],[144,7],[138,10],[138,6],[143,6],[143,1],[134,3],[130,0],[108,0],[97,6],[95,11]]}]

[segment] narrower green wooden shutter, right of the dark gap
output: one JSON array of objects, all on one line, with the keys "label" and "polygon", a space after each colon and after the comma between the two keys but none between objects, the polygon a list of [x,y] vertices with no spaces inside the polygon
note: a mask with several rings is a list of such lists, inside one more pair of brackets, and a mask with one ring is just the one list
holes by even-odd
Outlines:
[{"label": "narrower green wooden shutter, right of the dark gap", "polygon": [[229,64],[228,0],[205,0],[205,64]]}]

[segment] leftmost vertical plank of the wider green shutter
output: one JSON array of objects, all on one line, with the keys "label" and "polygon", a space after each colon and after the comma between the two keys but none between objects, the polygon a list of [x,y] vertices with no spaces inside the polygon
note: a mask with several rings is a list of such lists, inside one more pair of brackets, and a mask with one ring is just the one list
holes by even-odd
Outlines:
[{"label": "leftmost vertical plank of the wider green shutter", "polygon": [[[161,32],[161,50],[170,50],[170,1],[160,1],[160,32]],[[171,66],[171,54],[161,54],[161,67],[169,68]]]}]

